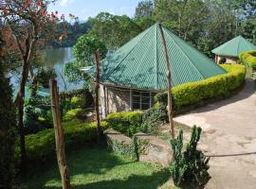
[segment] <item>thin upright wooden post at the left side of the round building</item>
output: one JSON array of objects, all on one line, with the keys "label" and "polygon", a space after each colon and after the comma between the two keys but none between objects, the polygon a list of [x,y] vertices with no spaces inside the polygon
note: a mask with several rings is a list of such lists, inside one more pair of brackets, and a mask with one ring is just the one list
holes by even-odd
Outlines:
[{"label": "thin upright wooden post at the left side of the round building", "polygon": [[95,112],[97,119],[97,139],[98,143],[101,142],[101,120],[99,112],[99,89],[100,89],[100,53],[99,50],[95,52],[96,60],[96,84],[95,84]]}]

